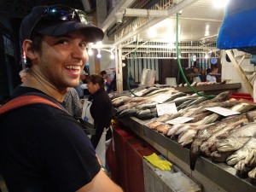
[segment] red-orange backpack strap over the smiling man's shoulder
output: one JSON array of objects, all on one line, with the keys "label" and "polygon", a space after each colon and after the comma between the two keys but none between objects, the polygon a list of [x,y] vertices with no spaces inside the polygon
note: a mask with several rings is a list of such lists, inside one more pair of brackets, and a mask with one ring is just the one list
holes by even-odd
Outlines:
[{"label": "red-orange backpack strap over the smiling man's shoulder", "polygon": [[54,106],[55,108],[59,108],[63,110],[63,108],[55,104],[55,102],[51,102],[49,101],[49,99],[46,99],[42,96],[19,96],[5,103],[0,108],[0,114],[9,112],[10,110],[14,110],[15,108],[20,108],[20,107],[31,105],[34,103],[44,103],[44,104],[51,105],[51,106]]}]

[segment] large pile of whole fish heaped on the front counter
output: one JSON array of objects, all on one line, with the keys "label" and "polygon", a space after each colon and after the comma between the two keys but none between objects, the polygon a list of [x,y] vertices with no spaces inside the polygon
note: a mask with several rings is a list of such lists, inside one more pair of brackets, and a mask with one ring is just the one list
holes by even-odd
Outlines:
[{"label": "large pile of whole fish heaped on the front counter", "polygon": [[[166,97],[159,102],[157,96]],[[188,95],[170,88],[148,88],[137,91],[137,96],[113,98],[116,117],[147,119],[149,129],[157,131],[189,148],[190,169],[200,155],[212,161],[223,162],[236,168],[239,177],[249,177],[256,182],[256,104],[230,99],[230,91],[214,98]],[[158,115],[160,103],[175,103],[177,113]],[[239,112],[230,116],[208,111],[206,108],[221,107]],[[186,123],[170,125],[167,121],[177,117],[189,117]]]}]

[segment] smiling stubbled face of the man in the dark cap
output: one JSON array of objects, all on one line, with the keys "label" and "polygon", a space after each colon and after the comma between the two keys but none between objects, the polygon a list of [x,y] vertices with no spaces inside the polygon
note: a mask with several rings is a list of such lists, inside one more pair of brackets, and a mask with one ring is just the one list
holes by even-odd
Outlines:
[{"label": "smiling stubbled face of the man in the dark cap", "polygon": [[81,32],[65,36],[44,36],[41,53],[33,63],[40,76],[57,89],[75,87],[88,60],[87,41]]}]

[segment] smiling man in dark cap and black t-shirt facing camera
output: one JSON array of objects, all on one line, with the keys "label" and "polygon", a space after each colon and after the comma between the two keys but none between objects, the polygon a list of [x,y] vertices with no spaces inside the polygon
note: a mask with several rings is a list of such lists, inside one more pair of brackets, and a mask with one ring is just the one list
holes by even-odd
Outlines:
[{"label": "smiling man in dark cap and black t-shirt facing camera", "polygon": [[[87,44],[103,37],[81,10],[64,5],[33,8],[20,25],[29,79],[13,98],[38,93],[60,106],[69,88],[79,85]],[[4,113],[0,154],[9,192],[122,191],[102,171],[79,122],[52,105],[33,103]]]}]

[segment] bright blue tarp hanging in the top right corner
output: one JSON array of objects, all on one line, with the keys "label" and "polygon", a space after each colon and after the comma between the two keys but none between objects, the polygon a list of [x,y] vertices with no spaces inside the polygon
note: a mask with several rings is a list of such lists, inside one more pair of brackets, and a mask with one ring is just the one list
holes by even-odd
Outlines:
[{"label": "bright blue tarp hanging in the top right corner", "polygon": [[256,0],[230,0],[218,33],[217,48],[256,54]]}]

